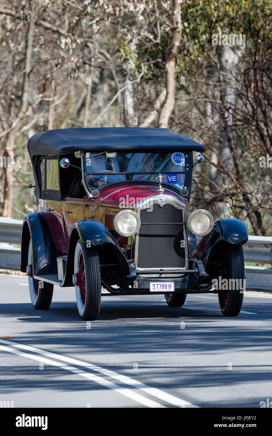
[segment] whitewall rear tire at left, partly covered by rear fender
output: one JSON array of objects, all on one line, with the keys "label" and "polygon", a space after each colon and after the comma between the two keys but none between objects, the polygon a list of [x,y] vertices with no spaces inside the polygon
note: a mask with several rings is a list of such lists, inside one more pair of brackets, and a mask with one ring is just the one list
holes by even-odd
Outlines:
[{"label": "whitewall rear tire at left, partly covered by rear fender", "polygon": [[33,279],[32,242],[28,246],[28,265],[31,267],[31,276],[28,276],[28,287],[31,303],[36,310],[48,310],[52,302],[54,285]]}]

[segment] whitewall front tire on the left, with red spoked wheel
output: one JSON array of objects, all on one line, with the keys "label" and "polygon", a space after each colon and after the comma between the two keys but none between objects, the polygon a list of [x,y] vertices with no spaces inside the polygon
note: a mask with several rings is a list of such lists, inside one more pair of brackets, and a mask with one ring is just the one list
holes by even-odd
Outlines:
[{"label": "whitewall front tire on the left, with red spoked wheel", "polygon": [[79,315],[85,321],[98,317],[101,302],[101,272],[97,249],[76,244],[73,283]]}]

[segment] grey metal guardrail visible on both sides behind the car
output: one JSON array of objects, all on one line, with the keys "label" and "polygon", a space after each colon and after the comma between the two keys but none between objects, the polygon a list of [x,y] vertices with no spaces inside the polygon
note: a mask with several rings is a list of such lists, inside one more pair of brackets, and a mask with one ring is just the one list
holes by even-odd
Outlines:
[{"label": "grey metal guardrail visible on both sides behind the car", "polygon": [[[20,269],[21,249],[8,244],[21,243],[22,224],[21,220],[0,218],[0,269]],[[249,236],[243,249],[245,262],[272,265],[272,237]],[[272,267],[246,266],[245,270],[247,290],[272,292]]]}]

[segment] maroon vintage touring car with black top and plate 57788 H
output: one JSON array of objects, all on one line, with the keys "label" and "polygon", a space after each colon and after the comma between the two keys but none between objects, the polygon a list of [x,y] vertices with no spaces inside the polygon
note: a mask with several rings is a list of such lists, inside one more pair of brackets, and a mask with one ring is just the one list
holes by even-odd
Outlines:
[{"label": "maroon vintage touring car with black top and plate 57788 H", "polygon": [[189,210],[204,161],[193,152],[205,146],[169,129],[116,127],[37,133],[28,151],[37,213],[24,219],[21,271],[35,309],[48,309],[59,285],[75,287],[83,320],[96,319],[101,295],[164,294],[181,307],[188,293],[218,293],[223,315],[239,314],[247,227]]}]

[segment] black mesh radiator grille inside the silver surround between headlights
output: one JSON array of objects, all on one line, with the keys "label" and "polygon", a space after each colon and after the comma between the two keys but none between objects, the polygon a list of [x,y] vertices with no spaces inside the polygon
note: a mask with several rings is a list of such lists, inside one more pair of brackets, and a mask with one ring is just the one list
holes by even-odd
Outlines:
[{"label": "black mesh radiator grille inside the silver surround between headlights", "polygon": [[142,210],[140,218],[138,268],[184,268],[183,225],[172,224],[183,222],[182,210],[153,204],[153,210]]}]

